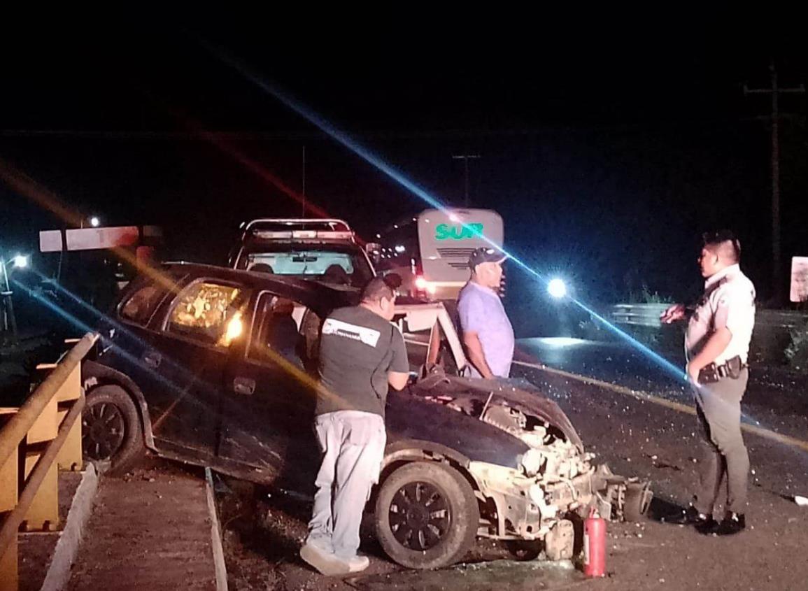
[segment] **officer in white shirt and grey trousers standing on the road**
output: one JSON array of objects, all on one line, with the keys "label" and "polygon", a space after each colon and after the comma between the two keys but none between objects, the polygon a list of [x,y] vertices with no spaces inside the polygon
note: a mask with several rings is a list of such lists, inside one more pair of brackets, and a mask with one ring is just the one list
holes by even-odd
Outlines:
[{"label": "officer in white shirt and grey trousers standing on the road", "polygon": [[[737,534],[746,527],[749,455],[741,434],[741,399],[747,389],[747,355],[755,325],[755,286],[741,272],[741,246],[728,231],[705,234],[699,257],[705,292],[692,310],[685,333],[687,375],[696,398],[701,434],[698,492],[673,522],[695,525],[703,534]],[[686,316],[682,304],[668,308],[665,323]],[[722,480],[725,514],[713,518]]]}]

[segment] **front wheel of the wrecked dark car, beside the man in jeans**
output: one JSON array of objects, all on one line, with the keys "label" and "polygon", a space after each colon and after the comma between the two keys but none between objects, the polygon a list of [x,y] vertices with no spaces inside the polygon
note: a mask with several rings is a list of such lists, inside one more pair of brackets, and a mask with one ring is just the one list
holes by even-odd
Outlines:
[{"label": "front wheel of the wrecked dark car, beside the man in jeans", "polygon": [[414,462],[381,484],[377,538],[391,559],[408,568],[454,564],[472,547],[480,513],[471,485],[443,463]]}]

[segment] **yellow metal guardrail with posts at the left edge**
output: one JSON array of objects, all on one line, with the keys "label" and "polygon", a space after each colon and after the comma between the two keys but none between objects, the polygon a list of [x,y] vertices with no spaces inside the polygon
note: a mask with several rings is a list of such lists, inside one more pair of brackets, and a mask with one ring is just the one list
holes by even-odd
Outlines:
[{"label": "yellow metal guardrail with posts at the left edge", "polygon": [[19,408],[0,407],[0,591],[16,591],[17,534],[59,526],[57,468],[82,467],[82,359],[76,343]]}]

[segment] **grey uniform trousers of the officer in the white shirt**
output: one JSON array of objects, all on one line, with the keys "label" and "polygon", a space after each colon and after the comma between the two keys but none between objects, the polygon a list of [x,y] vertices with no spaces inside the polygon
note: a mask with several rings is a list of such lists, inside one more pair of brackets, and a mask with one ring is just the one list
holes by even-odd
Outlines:
[{"label": "grey uniform trousers of the officer in the white shirt", "polygon": [[726,476],[726,510],[743,513],[747,504],[749,455],[741,434],[741,399],[749,371],[738,379],[722,378],[696,390],[696,413],[701,428],[699,488],[693,505],[712,514]]}]

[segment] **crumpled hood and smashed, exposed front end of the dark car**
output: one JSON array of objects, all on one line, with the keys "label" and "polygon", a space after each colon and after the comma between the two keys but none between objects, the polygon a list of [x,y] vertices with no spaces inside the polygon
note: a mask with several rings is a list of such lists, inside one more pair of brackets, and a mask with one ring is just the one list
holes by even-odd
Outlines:
[{"label": "crumpled hood and smashed, exposed front end of the dark car", "polygon": [[463,379],[438,371],[413,393],[524,444],[507,463],[469,458],[466,470],[482,501],[480,536],[543,540],[546,555],[562,560],[572,556],[570,514],[586,517],[595,508],[606,519],[636,520],[650,503],[648,482],[597,465],[558,404],[525,380]]}]

